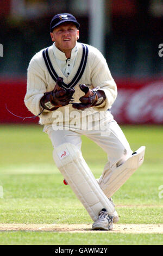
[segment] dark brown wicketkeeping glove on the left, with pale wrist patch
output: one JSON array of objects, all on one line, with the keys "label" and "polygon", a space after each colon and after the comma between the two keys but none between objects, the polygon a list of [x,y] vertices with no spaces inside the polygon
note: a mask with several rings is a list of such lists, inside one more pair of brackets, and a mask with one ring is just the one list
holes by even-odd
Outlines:
[{"label": "dark brown wicketkeeping glove on the left, with pale wrist patch", "polygon": [[64,89],[61,87],[63,78],[58,77],[52,92],[46,92],[40,100],[40,104],[44,109],[54,111],[59,107],[68,105],[73,99],[74,89]]}]

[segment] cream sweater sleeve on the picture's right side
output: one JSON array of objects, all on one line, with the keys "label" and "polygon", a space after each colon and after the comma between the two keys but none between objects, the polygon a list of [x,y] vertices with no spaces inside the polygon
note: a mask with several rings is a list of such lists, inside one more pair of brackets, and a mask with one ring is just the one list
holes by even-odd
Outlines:
[{"label": "cream sweater sleeve on the picture's right side", "polygon": [[96,111],[106,111],[111,108],[117,97],[117,86],[110,74],[108,64],[102,53],[97,51],[95,58],[92,62],[91,69],[91,82],[93,87],[99,86],[101,90],[104,91],[106,95],[106,100],[103,102],[102,106],[93,107]]}]

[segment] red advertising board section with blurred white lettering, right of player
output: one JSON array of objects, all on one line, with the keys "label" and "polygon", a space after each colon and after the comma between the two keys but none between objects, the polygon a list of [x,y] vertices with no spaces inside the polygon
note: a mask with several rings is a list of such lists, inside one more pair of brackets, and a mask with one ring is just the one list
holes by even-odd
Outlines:
[{"label": "red advertising board section with blurred white lettering, right of player", "polygon": [[118,80],[111,112],[118,123],[163,124],[163,78]]}]

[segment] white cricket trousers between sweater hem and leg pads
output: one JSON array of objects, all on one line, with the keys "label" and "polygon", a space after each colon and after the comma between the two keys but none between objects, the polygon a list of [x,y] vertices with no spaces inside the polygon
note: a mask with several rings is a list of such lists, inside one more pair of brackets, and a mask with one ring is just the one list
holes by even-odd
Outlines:
[{"label": "white cricket trousers between sweater hem and leg pads", "polygon": [[53,130],[52,125],[45,125],[43,131],[48,133],[48,136],[52,141],[53,148],[64,143],[72,143],[81,151],[81,136],[85,135],[90,138],[108,155],[108,162],[106,162],[104,166],[104,172],[106,172],[106,170],[110,170],[112,167],[120,166],[120,164],[125,162],[133,153],[124,133],[115,120],[108,124],[106,131],[83,131],[79,129]]}]

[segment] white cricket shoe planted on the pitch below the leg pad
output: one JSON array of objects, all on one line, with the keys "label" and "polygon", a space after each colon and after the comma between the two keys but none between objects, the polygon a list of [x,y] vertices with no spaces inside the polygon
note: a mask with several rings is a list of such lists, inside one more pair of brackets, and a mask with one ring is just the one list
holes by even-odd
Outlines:
[{"label": "white cricket shoe planted on the pitch below the leg pad", "polygon": [[99,212],[97,220],[92,225],[92,230],[112,230],[112,216],[108,214],[106,209]]}]

